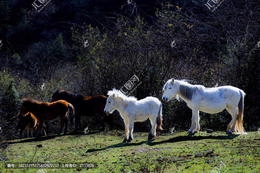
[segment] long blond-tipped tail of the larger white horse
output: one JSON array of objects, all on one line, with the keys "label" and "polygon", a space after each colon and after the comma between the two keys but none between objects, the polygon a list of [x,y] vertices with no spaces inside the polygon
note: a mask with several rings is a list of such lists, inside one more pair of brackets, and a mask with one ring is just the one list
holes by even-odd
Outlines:
[{"label": "long blond-tipped tail of the larger white horse", "polygon": [[247,135],[248,133],[246,133],[244,127],[243,127],[243,111],[244,111],[244,96],[246,95],[246,93],[244,93],[244,91],[239,90],[239,93],[241,95],[238,106],[237,106],[237,123],[235,126],[235,131],[237,131],[238,133],[242,134],[242,135]]}]

